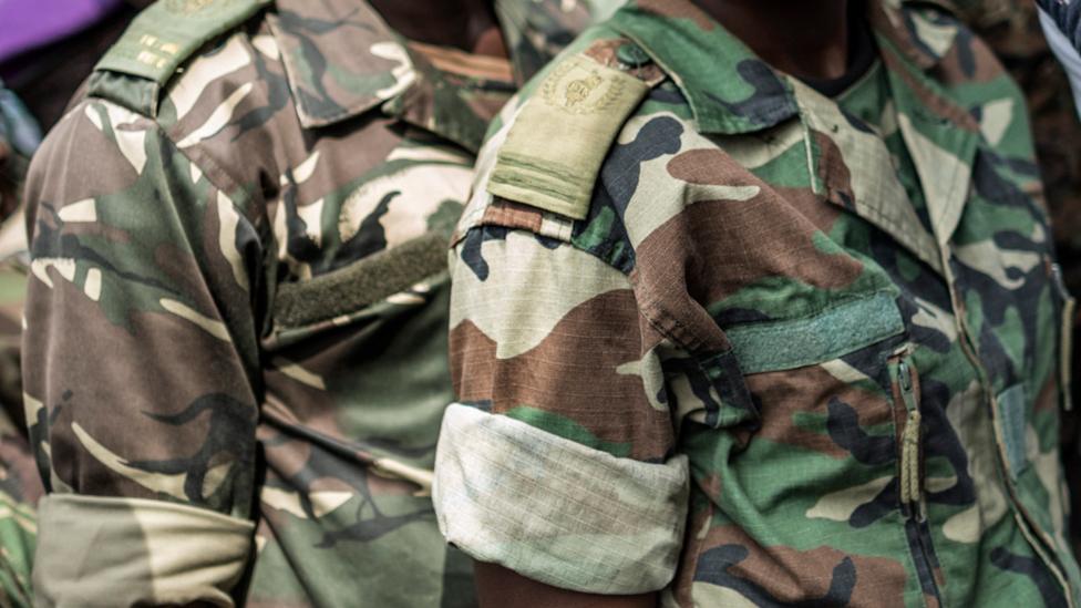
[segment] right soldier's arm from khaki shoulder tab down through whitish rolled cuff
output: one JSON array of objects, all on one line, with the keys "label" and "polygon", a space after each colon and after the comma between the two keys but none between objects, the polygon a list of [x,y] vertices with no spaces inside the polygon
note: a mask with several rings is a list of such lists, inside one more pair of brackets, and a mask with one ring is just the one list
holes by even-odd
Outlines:
[{"label": "right soldier's arm from khaki shoulder tab down through whitish rolled cuff", "polygon": [[[639,297],[619,219],[576,218],[660,75],[608,66],[621,42],[579,44],[540,83],[547,102],[507,105],[477,161],[451,264],[461,403],[443,419],[433,498],[447,539],[484,564],[482,597],[649,605],[688,521],[672,391],[687,353],[644,313],[652,297]],[[597,91],[604,112],[573,110]],[[574,136],[547,140],[552,124]]]}]

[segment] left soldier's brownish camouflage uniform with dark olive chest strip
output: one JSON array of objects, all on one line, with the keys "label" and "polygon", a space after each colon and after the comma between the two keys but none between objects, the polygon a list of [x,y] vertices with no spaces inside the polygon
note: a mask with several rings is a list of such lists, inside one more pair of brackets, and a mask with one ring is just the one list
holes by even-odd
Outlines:
[{"label": "left soldier's brownish camouflage uniform with dark olive chest strip", "polygon": [[359,0],[136,18],[28,178],[35,601],[474,602],[429,494],[446,243],[512,76]]}]

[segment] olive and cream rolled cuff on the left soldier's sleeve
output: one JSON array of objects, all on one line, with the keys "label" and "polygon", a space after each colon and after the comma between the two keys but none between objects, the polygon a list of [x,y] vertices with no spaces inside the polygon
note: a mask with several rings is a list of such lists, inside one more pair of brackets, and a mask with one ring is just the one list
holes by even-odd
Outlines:
[{"label": "olive and cream rolled cuff on the left soldier's sleeve", "polygon": [[255,524],[161,501],[54,494],[39,504],[37,606],[234,606]]}]

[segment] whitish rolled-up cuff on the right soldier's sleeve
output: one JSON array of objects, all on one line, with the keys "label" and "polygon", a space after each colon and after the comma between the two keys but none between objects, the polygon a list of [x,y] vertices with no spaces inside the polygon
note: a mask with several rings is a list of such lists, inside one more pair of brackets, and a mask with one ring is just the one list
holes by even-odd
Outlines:
[{"label": "whitish rolled-up cuff on the right soldier's sleeve", "polygon": [[455,404],[432,497],[444,536],[477,560],[564,589],[630,595],[671,581],[687,493],[686,456],[617,458]]}]

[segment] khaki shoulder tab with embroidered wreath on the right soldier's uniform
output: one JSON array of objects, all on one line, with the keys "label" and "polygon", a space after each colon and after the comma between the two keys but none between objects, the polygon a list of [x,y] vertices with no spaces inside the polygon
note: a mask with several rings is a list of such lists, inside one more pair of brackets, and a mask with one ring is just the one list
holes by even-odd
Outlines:
[{"label": "khaki shoulder tab with embroidered wreath on the right soldier's uniform", "polygon": [[647,63],[641,48],[612,41],[559,61],[511,125],[488,193],[585,219],[608,148],[663,80]]}]

